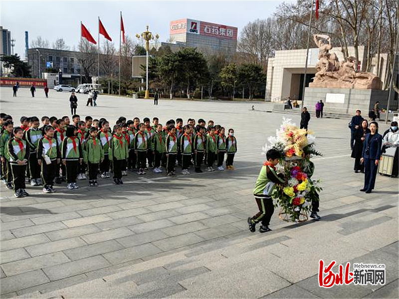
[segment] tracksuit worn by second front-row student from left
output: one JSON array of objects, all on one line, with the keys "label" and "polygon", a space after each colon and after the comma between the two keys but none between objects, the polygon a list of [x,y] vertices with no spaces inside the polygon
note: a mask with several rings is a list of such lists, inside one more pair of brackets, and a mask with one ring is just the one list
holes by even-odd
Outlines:
[{"label": "tracksuit worn by second front-row student from left", "polygon": [[[51,163],[47,164],[44,156],[50,158]],[[57,159],[61,158],[58,141],[56,138],[44,137],[40,138],[37,145],[37,160],[41,160],[41,182],[46,187],[54,185],[54,178],[58,169]]]}]

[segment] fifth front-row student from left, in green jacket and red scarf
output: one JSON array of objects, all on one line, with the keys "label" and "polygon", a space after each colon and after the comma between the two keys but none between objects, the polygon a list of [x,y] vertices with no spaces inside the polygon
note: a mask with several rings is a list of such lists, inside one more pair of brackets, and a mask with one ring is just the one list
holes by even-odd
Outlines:
[{"label": "fifth front-row student from left, in green jacket and red scarf", "polygon": [[129,148],[125,136],[122,134],[122,126],[114,126],[114,135],[112,136],[109,152],[109,160],[114,166],[114,184],[121,185],[122,169],[125,161],[129,157]]}]

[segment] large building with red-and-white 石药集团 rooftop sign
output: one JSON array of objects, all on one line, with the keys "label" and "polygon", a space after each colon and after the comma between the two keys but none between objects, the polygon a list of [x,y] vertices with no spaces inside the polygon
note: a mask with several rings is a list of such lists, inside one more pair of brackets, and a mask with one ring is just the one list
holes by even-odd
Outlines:
[{"label": "large building with red-and-white \u77f3\u836f\u96c6\u56e2 rooftop sign", "polygon": [[205,54],[224,53],[232,56],[237,50],[237,27],[209,23],[189,18],[170,22],[170,42],[172,51],[183,47],[194,47]]}]

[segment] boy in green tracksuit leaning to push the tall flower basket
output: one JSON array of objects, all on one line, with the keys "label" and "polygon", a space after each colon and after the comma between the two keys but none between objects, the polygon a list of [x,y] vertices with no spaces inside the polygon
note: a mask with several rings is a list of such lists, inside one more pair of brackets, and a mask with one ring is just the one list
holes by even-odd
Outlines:
[{"label": "boy in green tracksuit leaning to push the tall flower basket", "polygon": [[255,226],[259,222],[262,222],[259,232],[266,233],[271,231],[269,223],[274,212],[271,195],[276,184],[284,184],[285,182],[284,176],[276,173],[276,165],[280,158],[280,153],[275,149],[270,149],[266,153],[267,161],[263,164],[253,189],[259,212],[253,217],[248,217],[247,220],[249,231],[252,233],[255,232]]}]

